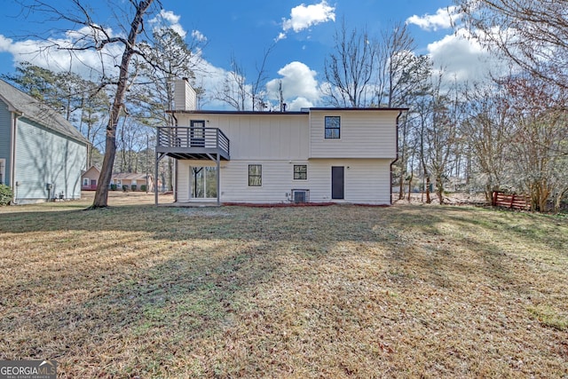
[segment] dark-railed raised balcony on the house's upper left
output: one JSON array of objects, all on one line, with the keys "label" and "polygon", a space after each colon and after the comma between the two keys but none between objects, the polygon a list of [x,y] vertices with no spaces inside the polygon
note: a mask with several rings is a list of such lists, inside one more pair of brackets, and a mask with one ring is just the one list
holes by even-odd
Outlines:
[{"label": "dark-railed raised balcony on the house's upper left", "polygon": [[217,128],[159,126],[156,153],[176,159],[228,161],[229,138]]}]

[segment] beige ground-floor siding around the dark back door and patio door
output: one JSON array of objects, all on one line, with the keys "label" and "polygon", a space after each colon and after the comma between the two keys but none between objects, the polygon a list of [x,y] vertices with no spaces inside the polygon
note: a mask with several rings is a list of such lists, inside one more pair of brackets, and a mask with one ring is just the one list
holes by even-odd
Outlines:
[{"label": "beige ground-floor siding around the dark back door and patio door", "polygon": [[[248,186],[248,165],[263,167],[262,186]],[[294,179],[294,165],[305,164],[306,180]],[[179,161],[177,200],[191,201],[189,168],[215,166],[212,161]],[[310,190],[310,201],[331,200],[331,167],[343,166],[345,202],[390,204],[390,160],[322,159],[310,161],[230,161],[221,162],[221,201],[278,203],[288,202],[293,189]]]}]

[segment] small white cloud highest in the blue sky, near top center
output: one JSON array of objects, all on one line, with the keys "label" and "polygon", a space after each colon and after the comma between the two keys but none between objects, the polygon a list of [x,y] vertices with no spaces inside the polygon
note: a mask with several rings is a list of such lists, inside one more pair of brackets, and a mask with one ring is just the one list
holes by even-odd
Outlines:
[{"label": "small white cloud highest in the blue sky, near top center", "polygon": [[298,33],[327,21],[335,21],[335,7],[327,4],[326,0],[322,0],[319,4],[300,4],[292,8],[288,20],[282,19],[283,32],[276,38],[276,41],[286,38],[286,32],[290,29]]}]

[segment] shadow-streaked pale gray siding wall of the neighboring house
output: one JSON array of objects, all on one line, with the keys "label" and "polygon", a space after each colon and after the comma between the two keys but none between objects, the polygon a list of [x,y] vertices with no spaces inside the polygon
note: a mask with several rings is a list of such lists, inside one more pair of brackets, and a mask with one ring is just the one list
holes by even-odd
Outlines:
[{"label": "shadow-streaked pale gray siding wall of the neighboring house", "polygon": [[[85,170],[87,147],[20,118],[16,131],[15,197],[18,202],[59,197],[81,198],[81,171]],[[52,184],[48,192],[46,185]]]}]

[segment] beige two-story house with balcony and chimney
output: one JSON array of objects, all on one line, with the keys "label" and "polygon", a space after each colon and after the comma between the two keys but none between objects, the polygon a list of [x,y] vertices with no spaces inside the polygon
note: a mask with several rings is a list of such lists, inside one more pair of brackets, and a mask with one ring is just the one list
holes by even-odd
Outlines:
[{"label": "beige two-story house with balcony and chimney", "polygon": [[158,128],[156,161],[176,158],[176,201],[390,204],[406,109],[196,110],[185,81],[175,96],[177,126]]}]

